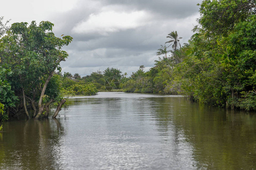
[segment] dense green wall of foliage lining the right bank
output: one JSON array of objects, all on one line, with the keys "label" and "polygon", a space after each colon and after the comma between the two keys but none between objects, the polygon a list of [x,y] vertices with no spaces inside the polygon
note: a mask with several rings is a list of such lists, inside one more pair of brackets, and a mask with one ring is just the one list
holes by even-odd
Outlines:
[{"label": "dense green wall of foliage lining the right bank", "polygon": [[[256,109],[255,1],[203,1],[188,44],[172,52],[182,62],[161,69],[165,92],[218,106]],[[178,54],[179,55],[179,54]],[[170,74],[169,76],[166,74]]]}]

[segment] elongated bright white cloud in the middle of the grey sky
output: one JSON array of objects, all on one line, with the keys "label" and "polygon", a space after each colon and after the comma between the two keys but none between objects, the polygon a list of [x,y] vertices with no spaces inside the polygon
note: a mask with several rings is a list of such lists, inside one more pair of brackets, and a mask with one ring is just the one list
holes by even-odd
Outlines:
[{"label": "elongated bright white cloud in the middle of the grey sky", "polygon": [[75,33],[107,33],[134,29],[147,24],[148,14],[145,11],[117,12],[105,11],[90,14],[86,21],[78,23],[72,31]]}]

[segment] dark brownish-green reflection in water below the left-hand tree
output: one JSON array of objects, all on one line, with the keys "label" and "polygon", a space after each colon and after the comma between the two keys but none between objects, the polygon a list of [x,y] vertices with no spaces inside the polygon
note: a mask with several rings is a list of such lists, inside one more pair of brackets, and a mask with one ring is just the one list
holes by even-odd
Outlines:
[{"label": "dark brownish-green reflection in water below the left-hand tree", "polygon": [[[8,122],[3,134],[0,169],[56,169],[58,148],[65,135],[58,119]],[[0,154],[1,154],[0,151]],[[1,154],[1,155],[3,155]]]}]

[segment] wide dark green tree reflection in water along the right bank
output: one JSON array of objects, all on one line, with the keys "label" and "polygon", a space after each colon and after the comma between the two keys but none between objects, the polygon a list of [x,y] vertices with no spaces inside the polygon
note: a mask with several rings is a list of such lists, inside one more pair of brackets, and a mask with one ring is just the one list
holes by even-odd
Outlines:
[{"label": "wide dark green tree reflection in water along the right bank", "polygon": [[[193,148],[195,167],[251,169],[256,166],[256,115],[183,103],[178,99],[157,100],[159,109],[155,120],[160,135],[175,144],[184,137]],[[171,104],[161,104],[168,102]],[[174,150],[179,150],[177,146],[172,145]]]}]

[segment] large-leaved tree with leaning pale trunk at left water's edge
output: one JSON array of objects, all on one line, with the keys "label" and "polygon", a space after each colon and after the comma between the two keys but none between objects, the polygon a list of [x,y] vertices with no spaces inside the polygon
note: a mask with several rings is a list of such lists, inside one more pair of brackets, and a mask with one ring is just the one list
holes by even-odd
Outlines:
[{"label": "large-leaved tree with leaning pale trunk at left water's edge", "polygon": [[[9,76],[12,88],[17,96],[23,96],[24,108],[27,101],[36,109],[35,118],[40,118],[46,111],[48,102],[56,102],[56,98],[45,100],[47,86],[57,69],[61,70],[60,62],[68,57],[67,52],[61,48],[72,41],[72,37],[58,38],[52,32],[53,23],[42,21],[37,26],[35,21],[28,23],[13,23],[7,35],[1,39],[0,55],[2,67],[13,71]],[[22,94],[19,92],[22,91]],[[35,101],[38,100],[37,105]],[[62,99],[65,100],[65,99]],[[60,102],[60,101],[59,101]],[[36,108],[37,107],[37,108]],[[27,114],[27,116],[29,116]]]}]

